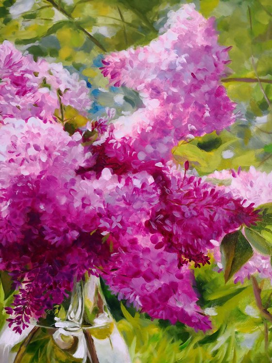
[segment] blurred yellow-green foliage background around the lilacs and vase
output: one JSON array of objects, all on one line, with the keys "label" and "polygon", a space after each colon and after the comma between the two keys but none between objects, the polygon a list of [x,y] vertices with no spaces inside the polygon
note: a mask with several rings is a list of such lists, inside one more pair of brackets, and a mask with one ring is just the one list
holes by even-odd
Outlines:
[{"label": "blurred yellow-green foliage background around the lilacs and vase", "polygon": [[[90,86],[89,118],[115,107],[118,114],[139,104],[125,87],[108,87],[100,70],[105,52],[147,44],[157,36],[170,9],[180,0],[0,0],[0,41],[8,39],[34,57],[48,57],[78,72]],[[188,1],[191,2],[191,1]],[[215,170],[272,170],[272,3],[271,0],[193,1],[205,17],[216,17],[221,44],[232,46],[229,97],[241,111],[220,134],[206,135],[175,148],[178,162],[190,161],[200,175]],[[21,6],[20,6],[21,4]],[[241,82],[246,78],[247,82]],[[258,80],[261,79],[262,82]],[[245,80],[244,80],[245,81]],[[71,126],[79,124],[74,118]],[[227,151],[227,153],[224,153]],[[226,158],[226,155],[228,156]],[[271,241],[272,242],[272,241]],[[226,284],[215,265],[197,269],[200,305],[211,315],[212,331],[195,332],[182,324],[151,321],[126,309],[104,286],[105,295],[133,363],[271,362],[272,325],[256,304],[251,281]],[[262,304],[272,308],[270,281],[258,280]],[[9,281],[1,274],[0,326],[10,303]],[[268,336],[268,343],[265,342]],[[39,349],[39,346],[36,346]],[[37,354],[39,356],[39,354]]]}]

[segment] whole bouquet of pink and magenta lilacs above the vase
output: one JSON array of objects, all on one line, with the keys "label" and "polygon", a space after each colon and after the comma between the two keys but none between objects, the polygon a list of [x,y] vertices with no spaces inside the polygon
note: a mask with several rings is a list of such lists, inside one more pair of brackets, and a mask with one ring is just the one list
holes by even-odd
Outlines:
[{"label": "whole bouquet of pink and magenta lilacs above the vase", "polygon": [[144,107],[112,122],[108,110],[72,136],[63,111],[87,116],[84,81],[0,46],[0,269],[18,290],[6,309],[18,333],[86,272],[152,318],[211,328],[194,268],[210,263],[216,241],[259,217],[246,196],[171,160],[178,140],[235,121],[220,83],[228,49],[189,5],[170,13],[161,33],[103,60],[103,75],[137,90]]}]

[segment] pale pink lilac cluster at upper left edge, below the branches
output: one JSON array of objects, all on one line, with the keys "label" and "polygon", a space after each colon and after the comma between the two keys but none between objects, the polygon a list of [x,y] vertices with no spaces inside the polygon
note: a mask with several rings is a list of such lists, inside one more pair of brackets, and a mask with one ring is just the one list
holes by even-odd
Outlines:
[{"label": "pale pink lilac cluster at upper left edge, below the branches", "polygon": [[13,44],[0,45],[0,122],[6,118],[27,121],[36,117],[54,122],[56,109],[63,105],[76,108],[86,115],[91,100],[85,81],[78,74],[70,74],[60,63],[44,59],[33,60],[22,55]]}]

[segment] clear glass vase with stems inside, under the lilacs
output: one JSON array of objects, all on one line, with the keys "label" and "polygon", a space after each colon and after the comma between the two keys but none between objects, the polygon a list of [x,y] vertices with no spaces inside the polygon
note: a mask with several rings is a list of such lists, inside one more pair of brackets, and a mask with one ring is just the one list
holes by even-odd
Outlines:
[{"label": "clear glass vase with stems inside, under the lilacs", "polygon": [[21,335],[0,333],[1,363],[130,363],[98,277],[74,282],[70,297]]}]

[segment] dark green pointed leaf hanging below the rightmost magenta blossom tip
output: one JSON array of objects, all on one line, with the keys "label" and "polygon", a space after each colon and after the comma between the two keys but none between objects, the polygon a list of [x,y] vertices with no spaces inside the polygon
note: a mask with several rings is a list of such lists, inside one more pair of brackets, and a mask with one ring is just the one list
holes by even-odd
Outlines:
[{"label": "dark green pointed leaf hanging below the rightmost magenta blossom tip", "polygon": [[227,282],[253,256],[253,249],[242,232],[235,231],[223,238],[221,254]]}]

